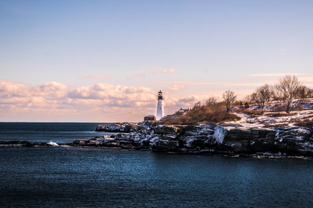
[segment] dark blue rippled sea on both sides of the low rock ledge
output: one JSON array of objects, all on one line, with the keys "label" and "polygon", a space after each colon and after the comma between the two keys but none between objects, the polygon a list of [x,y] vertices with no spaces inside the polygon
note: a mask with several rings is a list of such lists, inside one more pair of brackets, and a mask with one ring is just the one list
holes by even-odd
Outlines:
[{"label": "dark blue rippled sea on both sides of the low rock ledge", "polygon": [[[68,142],[97,123],[0,123],[0,140]],[[94,147],[0,147],[0,207],[312,207],[313,160]]]}]

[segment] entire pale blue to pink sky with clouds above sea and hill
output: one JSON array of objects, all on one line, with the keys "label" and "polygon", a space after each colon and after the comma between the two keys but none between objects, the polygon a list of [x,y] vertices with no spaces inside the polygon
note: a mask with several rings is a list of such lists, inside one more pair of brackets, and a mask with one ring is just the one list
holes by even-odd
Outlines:
[{"label": "entire pale blue to pink sky with clouds above sea and hill", "polygon": [[0,0],[0,121],[122,122],[295,74],[313,1]]}]

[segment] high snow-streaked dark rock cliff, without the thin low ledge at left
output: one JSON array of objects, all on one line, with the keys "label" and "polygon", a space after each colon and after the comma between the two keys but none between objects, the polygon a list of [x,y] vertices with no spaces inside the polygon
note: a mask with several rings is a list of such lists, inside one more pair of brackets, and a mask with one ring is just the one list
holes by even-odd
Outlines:
[{"label": "high snow-streaked dark rock cliff, without the thin low ledge at left", "polygon": [[157,151],[208,151],[254,154],[257,152],[313,155],[312,130],[246,129],[242,126],[153,126],[114,140],[137,148]]}]

